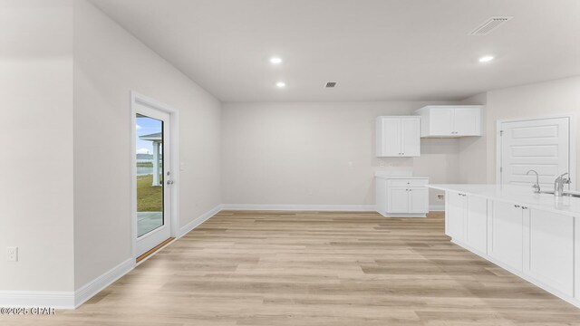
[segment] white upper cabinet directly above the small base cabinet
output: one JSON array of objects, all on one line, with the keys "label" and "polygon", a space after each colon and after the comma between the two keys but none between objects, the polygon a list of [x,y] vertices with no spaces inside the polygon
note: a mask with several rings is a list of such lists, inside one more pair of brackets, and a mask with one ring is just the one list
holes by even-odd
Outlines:
[{"label": "white upper cabinet directly above the small base cabinet", "polygon": [[378,117],[376,156],[420,156],[420,117]]}]

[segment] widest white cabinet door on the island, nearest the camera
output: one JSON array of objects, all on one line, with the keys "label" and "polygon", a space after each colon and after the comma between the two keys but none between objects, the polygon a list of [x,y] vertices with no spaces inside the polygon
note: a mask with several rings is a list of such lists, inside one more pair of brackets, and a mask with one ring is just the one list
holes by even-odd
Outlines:
[{"label": "widest white cabinet door on the island, nearest the camera", "polygon": [[537,209],[524,217],[524,273],[574,295],[574,217]]}]

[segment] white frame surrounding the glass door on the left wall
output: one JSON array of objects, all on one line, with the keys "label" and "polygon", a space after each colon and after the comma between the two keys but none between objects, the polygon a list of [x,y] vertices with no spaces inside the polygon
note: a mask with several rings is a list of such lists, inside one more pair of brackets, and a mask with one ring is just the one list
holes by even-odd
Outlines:
[{"label": "white frame surrounding the glass door on the left wall", "polygon": [[170,235],[177,238],[179,235],[179,110],[164,104],[160,101],[153,100],[147,96],[141,95],[137,91],[131,91],[131,256],[137,259],[137,187],[135,179],[137,177],[137,152],[135,137],[136,130],[136,105],[148,106],[155,110],[161,110],[169,114],[169,165],[171,171],[171,201],[170,216],[171,223]]}]

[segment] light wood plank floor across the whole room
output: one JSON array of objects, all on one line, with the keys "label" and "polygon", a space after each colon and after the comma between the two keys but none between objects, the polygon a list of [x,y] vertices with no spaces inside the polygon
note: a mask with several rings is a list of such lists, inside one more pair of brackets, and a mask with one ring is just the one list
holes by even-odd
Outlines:
[{"label": "light wood plank floor across the whole room", "polygon": [[[4,318],[4,319],[3,319]],[[221,212],[76,311],[0,325],[580,325],[442,214]]]}]

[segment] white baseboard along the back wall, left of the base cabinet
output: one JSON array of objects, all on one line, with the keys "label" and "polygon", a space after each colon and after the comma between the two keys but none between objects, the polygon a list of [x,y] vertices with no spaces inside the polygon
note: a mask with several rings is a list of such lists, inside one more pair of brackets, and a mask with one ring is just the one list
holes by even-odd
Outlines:
[{"label": "white baseboard along the back wall, left of the base cabinet", "polygon": [[256,205],[256,204],[224,204],[224,210],[295,210],[295,211],[344,211],[344,212],[374,212],[374,205]]}]

